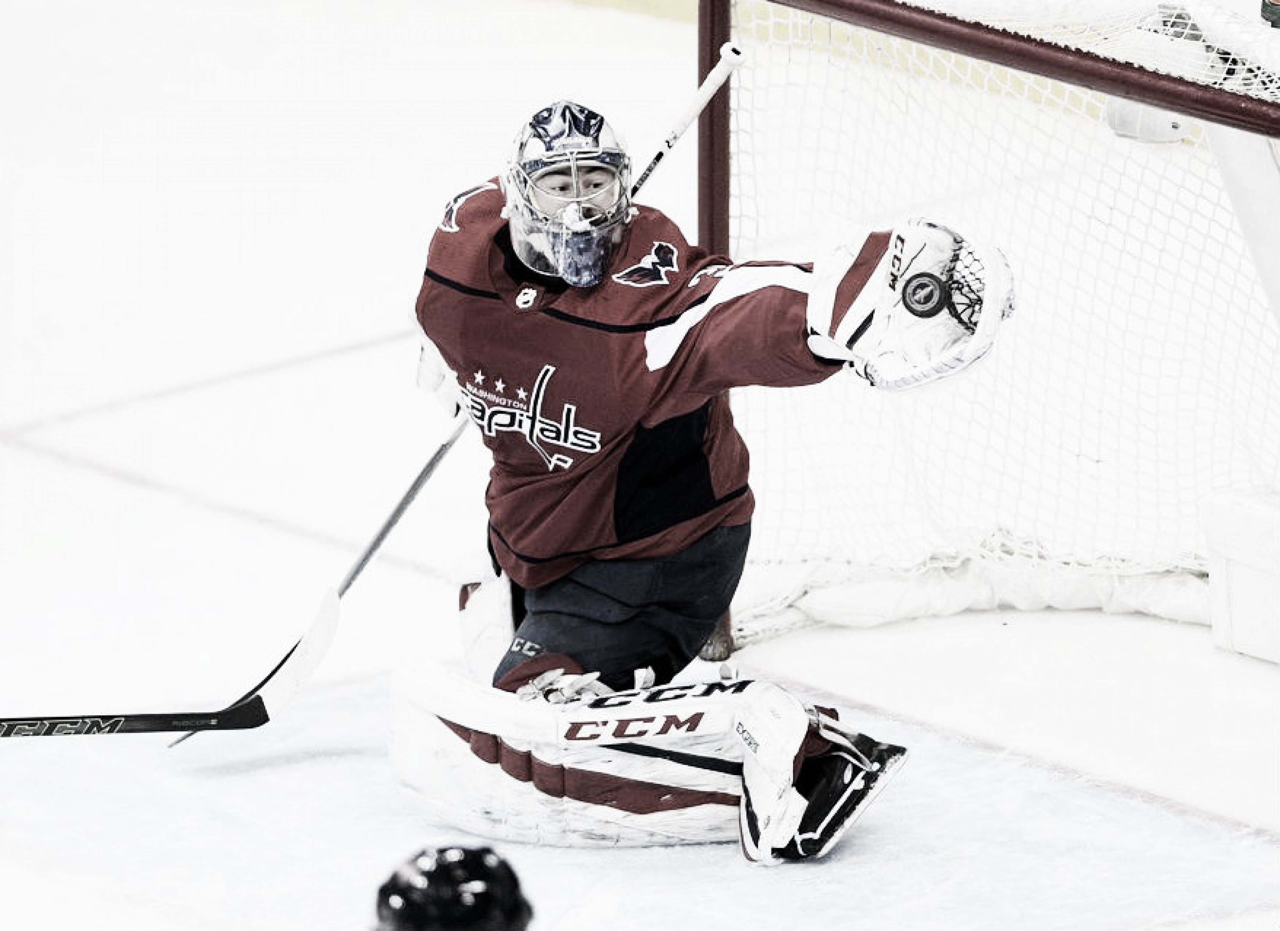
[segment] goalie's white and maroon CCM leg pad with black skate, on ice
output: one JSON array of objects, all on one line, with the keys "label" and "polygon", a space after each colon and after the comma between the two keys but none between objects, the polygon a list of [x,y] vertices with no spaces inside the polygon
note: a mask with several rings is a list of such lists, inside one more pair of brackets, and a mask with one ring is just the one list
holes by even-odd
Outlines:
[{"label": "goalie's white and maroon CCM leg pad with black skate, on ice", "polygon": [[553,844],[736,835],[776,863],[826,853],[902,755],[728,669],[614,692],[567,656],[529,666],[515,693],[421,664],[398,687],[397,769],[447,822]]}]

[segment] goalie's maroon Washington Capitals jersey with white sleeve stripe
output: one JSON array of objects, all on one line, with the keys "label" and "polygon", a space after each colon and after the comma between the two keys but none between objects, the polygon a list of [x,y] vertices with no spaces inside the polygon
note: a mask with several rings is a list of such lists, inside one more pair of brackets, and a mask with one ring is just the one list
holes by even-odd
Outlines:
[{"label": "goalie's maroon Washington Capitals jersey with white sleeve stripe", "polygon": [[727,391],[838,366],[805,345],[808,266],[731,265],[640,207],[590,289],[526,269],[495,180],[431,240],[417,320],[493,453],[498,563],[525,587],[590,559],[677,552],[754,505]]}]

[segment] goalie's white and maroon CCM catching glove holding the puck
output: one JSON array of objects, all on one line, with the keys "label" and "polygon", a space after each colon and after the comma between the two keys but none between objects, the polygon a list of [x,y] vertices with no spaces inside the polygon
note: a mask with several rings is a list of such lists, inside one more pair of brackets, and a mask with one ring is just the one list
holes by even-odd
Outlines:
[{"label": "goalie's white and maroon CCM catching glove holding the puck", "polygon": [[997,249],[911,220],[887,244],[874,234],[814,266],[809,349],[877,387],[915,387],[980,359],[1011,311],[1012,275]]}]

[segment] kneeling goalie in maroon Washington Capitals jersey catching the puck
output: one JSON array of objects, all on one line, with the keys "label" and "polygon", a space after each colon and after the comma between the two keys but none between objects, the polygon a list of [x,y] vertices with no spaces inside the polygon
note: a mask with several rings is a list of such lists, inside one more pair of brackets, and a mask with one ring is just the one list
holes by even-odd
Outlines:
[{"label": "kneeling goalie in maroon Washington Capitals jersey catching the puck", "polygon": [[733,263],[632,193],[604,118],[558,101],[433,237],[420,384],[492,454],[493,573],[465,590],[456,668],[439,638],[406,652],[399,770],[486,836],[820,857],[905,749],[696,660],[754,509],[728,391],[954,377],[992,347],[1009,270],[927,221]]}]

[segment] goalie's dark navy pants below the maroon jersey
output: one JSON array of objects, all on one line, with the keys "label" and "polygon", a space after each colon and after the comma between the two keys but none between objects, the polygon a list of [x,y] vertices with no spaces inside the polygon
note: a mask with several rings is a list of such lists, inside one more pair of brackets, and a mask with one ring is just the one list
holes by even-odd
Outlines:
[{"label": "goalie's dark navy pants below the maroon jersey", "polygon": [[668,682],[728,611],[750,536],[750,524],[718,527],[673,556],[585,563],[550,584],[513,591],[524,620],[494,684],[540,653],[571,656],[613,689],[631,688],[645,666],[657,684]]}]

